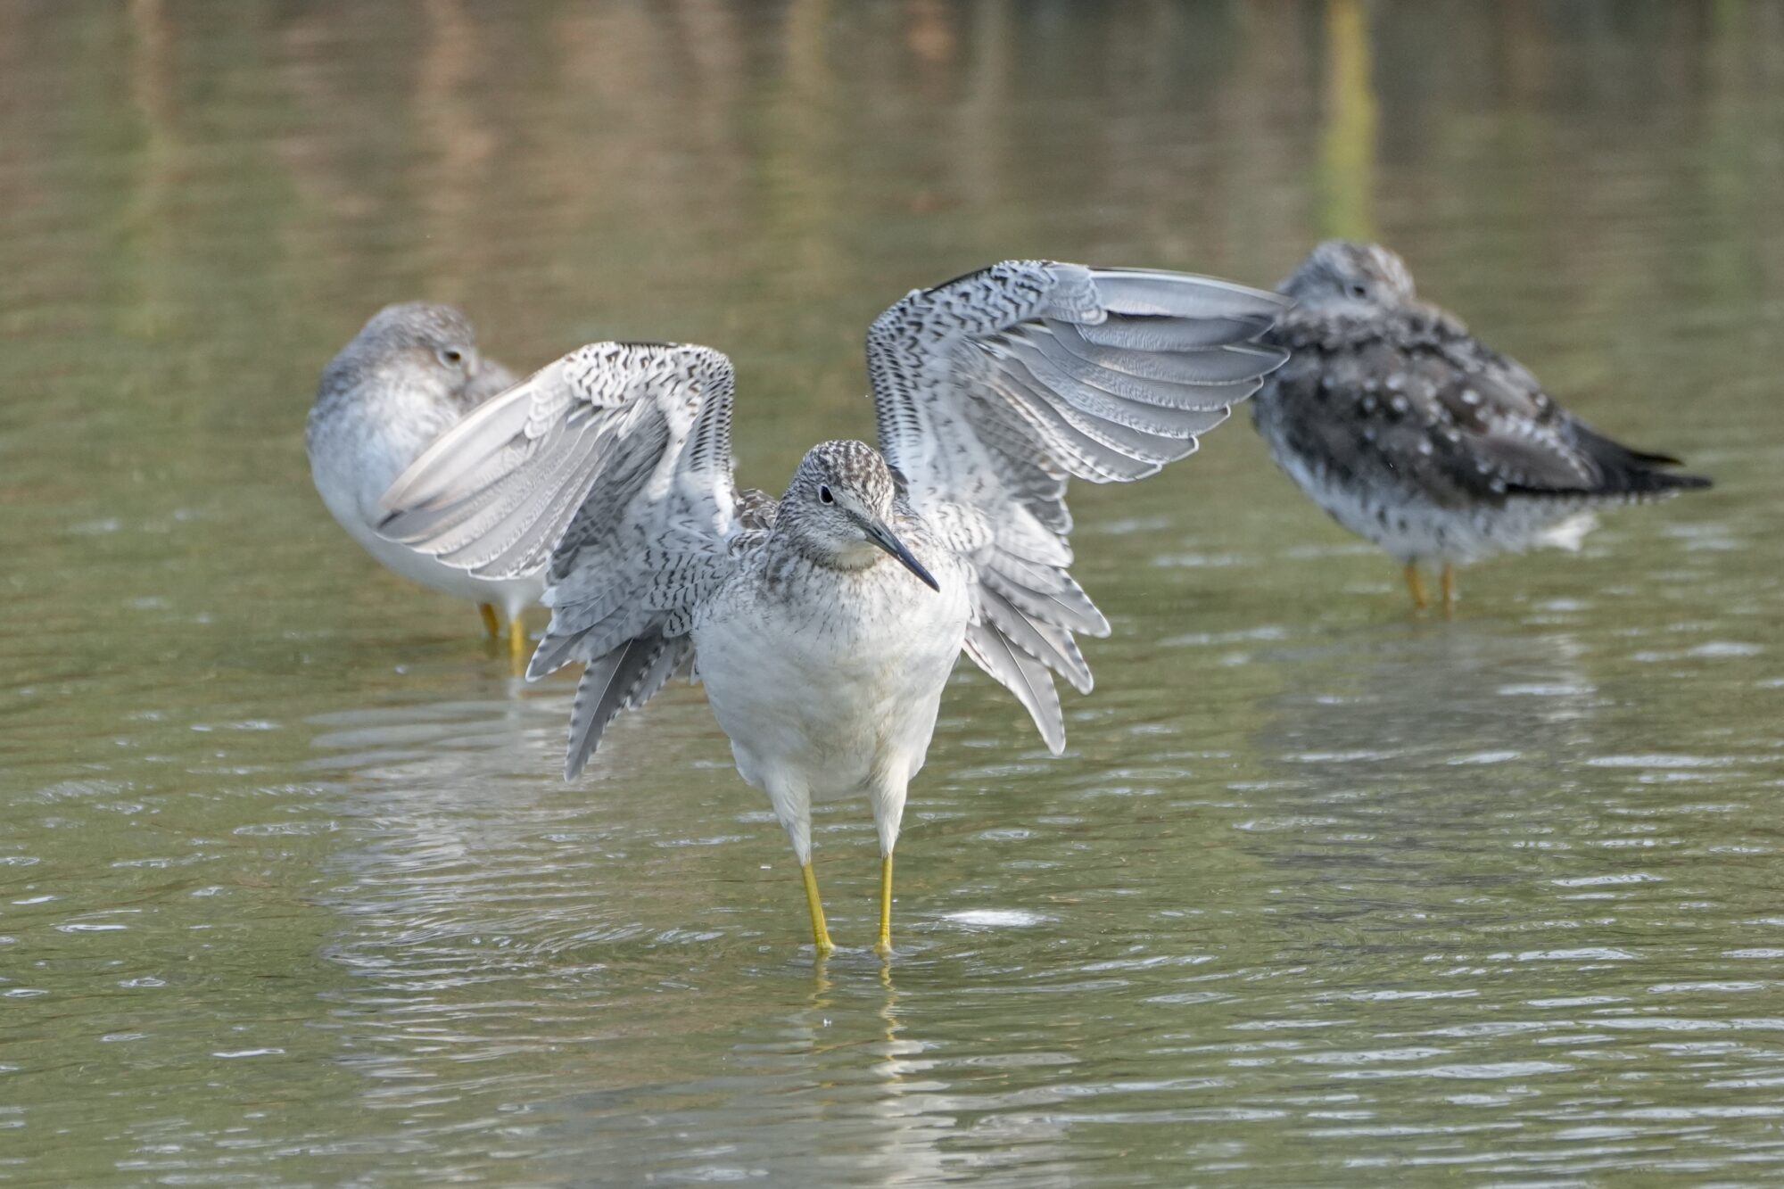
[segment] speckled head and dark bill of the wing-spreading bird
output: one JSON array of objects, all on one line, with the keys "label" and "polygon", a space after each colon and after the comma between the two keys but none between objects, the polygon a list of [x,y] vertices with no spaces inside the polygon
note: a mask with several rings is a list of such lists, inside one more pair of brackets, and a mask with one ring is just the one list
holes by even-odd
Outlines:
[{"label": "speckled head and dark bill of the wing-spreading bird", "polygon": [[897,559],[928,587],[940,589],[892,532],[897,480],[880,452],[860,441],[812,446],[781,496],[774,532],[801,553],[833,570],[865,570]]}]

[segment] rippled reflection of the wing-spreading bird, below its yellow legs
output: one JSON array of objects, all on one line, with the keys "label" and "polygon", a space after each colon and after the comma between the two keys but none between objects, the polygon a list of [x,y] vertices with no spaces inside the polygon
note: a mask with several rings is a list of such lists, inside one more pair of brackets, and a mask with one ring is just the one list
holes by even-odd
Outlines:
[{"label": "rippled reflection of the wing-spreading bird, below its yellow legs", "polygon": [[[537,1109],[549,1118],[546,1134],[562,1150],[587,1150],[591,1139],[610,1132],[619,1141],[648,1118],[687,1137],[674,1150],[615,1143],[607,1171],[626,1184],[940,1184],[960,1169],[1035,1169],[1063,1157],[1056,1141],[1067,1128],[1045,1110],[1006,1102],[1006,1112],[976,1121],[1003,1096],[951,1080],[938,1046],[912,1035],[894,964],[838,952],[808,968],[799,991],[797,978],[792,964],[751,973],[726,1012],[731,1044],[708,1053],[703,1077],[567,1094]],[[913,998],[922,1000],[928,971],[919,984]],[[771,987],[783,996],[780,1010],[769,1007],[776,993],[762,998]],[[995,1071],[981,1080],[995,1082]],[[997,1128],[995,1143],[962,1144],[987,1125]]]}]

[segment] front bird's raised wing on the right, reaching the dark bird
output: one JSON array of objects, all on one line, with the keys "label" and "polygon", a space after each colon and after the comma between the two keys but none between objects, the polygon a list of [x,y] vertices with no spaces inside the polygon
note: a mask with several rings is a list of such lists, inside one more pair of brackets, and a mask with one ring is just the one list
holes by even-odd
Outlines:
[{"label": "front bird's raised wing on the right, reaching the dark bird", "polygon": [[867,332],[880,450],[976,571],[967,653],[1058,753],[1051,673],[1108,621],[1067,573],[1069,477],[1127,482],[1195,450],[1286,357],[1288,302],[1222,280],[1008,261],[919,289]]}]

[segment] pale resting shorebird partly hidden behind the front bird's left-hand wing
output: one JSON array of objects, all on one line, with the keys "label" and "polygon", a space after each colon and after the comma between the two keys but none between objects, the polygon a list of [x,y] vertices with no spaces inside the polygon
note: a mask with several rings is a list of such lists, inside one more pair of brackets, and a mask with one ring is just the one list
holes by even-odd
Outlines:
[{"label": "pale resting shorebird partly hidden behind the front bird's left-hand wing", "polygon": [[480,578],[376,532],[380,498],[403,468],[512,384],[507,368],[478,355],[471,323],[451,305],[387,305],[323,371],[305,445],[316,491],[355,541],[405,578],[478,603],[491,637],[501,634],[500,603],[508,652],[524,661],[521,612],[544,591],[544,564]]}]

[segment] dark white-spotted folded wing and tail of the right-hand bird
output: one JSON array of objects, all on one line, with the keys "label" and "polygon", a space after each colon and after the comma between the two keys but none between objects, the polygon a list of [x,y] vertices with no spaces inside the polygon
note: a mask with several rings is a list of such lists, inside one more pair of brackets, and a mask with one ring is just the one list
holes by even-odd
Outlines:
[{"label": "dark white-spotted folded wing and tail of the right-hand bird", "polygon": [[1295,311],[1272,341],[1293,352],[1270,377],[1276,432],[1302,453],[1413,486],[1440,507],[1707,486],[1668,473],[1673,457],[1598,434],[1436,307],[1372,318]]}]

